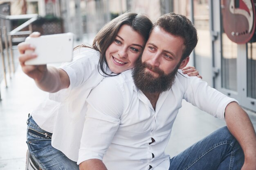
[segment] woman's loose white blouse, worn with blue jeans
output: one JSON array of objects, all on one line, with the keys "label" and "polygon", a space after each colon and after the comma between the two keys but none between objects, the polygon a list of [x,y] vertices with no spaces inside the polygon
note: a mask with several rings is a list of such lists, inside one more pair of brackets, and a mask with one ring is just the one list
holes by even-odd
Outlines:
[{"label": "woman's loose white blouse, worn with blue jeans", "polygon": [[98,72],[98,51],[78,48],[73,56],[71,63],[60,67],[70,77],[70,86],[49,94],[49,99],[32,112],[32,117],[41,129],[53,133],[54,148],[77,161],[87,111],[85,100],[104,76]]}]

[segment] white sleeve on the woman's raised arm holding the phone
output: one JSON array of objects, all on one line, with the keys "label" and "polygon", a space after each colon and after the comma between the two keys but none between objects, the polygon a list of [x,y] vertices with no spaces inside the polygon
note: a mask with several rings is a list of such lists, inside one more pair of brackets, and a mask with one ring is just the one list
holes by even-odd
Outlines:
[{"label": "white sleeve on the woman's raised arm holding the phone", "polygon": [[59,68],[64,70],[70,78],[70,86],[56,93],[49,93],[49,99],[63,102],[75,87],[88,80],[92,72],[98,72],[99,52],[91,48],[78,48],[73,52],[73,61],[64,63]]}]

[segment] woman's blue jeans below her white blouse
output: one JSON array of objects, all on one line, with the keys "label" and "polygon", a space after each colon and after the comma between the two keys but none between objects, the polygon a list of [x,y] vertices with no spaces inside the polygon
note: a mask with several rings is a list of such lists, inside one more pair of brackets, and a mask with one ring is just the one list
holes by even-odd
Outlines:
[{"label": "woman's blue jeans below her white blouse", "polygon": [[27,124],[29,152],[41,169],[79,170],[75,161],[68,159],[60,150],[52,147],[51,133],[40,129],[31,116],[27,120]]}]

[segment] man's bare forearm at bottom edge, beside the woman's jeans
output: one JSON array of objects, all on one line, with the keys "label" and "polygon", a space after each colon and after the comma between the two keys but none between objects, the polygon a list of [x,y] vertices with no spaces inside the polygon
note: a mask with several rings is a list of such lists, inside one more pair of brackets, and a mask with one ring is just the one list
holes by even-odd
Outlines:
[{"label": "man's bare forearm at bottom edge, beside the woman's jeans", "polygon": [[107,170],[107,168],[101,160],[89,159],[79,164],[79,170]]}]

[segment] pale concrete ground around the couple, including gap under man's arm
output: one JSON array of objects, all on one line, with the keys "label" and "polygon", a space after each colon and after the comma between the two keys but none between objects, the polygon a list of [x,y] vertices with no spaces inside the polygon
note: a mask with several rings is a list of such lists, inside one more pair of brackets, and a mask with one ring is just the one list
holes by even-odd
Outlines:
[{"label": "pale concrete ground around the couple, including gap under man's arm", "polygon": [[[27,151],[27,115],[47,94],[38,89],[20,67],[11,75],[11,79],[8,77],[7,80],[8,88],[4,82],[0,84],[0,170],[23,170]],[[256,113],[247,113],[256,125]],[[174,123],[166,153],[171,157],[177,155],[222,126],[225,126],[222,120],[213,118],[184,101]]]}]

